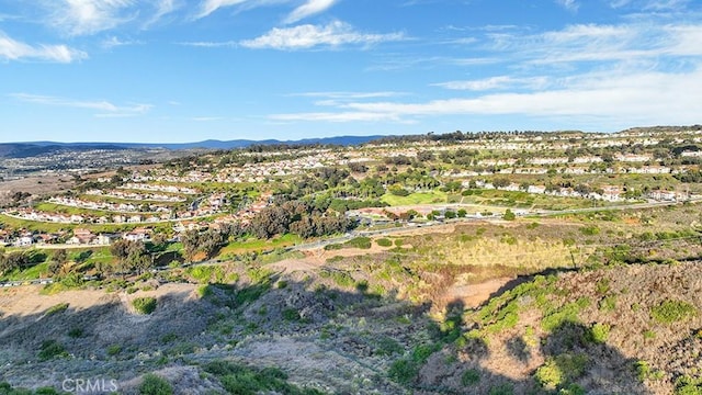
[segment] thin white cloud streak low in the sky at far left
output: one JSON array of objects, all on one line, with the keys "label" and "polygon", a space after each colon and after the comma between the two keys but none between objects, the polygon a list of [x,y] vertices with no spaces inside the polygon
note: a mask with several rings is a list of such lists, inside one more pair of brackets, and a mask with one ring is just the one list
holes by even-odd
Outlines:
[{"label": "thin white cloud streak low in the sky at far left", "polygon": [[97,113],[95,116],[101,117],[140,115],[148,112],[152,108],[151,104],[132,104],[120,106],[105,100],[83,101],[30,93],[13,93],[10,94],[10,97],[26,103],[94,110],[100,112]]}]

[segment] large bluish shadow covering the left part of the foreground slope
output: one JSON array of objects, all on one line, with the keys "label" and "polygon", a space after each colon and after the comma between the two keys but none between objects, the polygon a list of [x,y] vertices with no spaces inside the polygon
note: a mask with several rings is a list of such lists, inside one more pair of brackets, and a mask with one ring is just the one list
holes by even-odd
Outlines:
[{"label": "large bluish shadow covering the left part of the foreground slope", "polygon": [[[330,325],[340,314],[354,321],[411,317],[412,321],[417,319],[423,325],[426,307],[397,303],[399,301],[395,298],[383,300],[366,287],[343,291],[322,286],[319,280],[294,281],[263,269],[249,268],[246,272],[250,280],[234,284],[167,283],[152,291],[127,293],[122,290],[100,293],[98,297],[95,292],[86,293],[95,297],[87,308],[73,306],[87,304],[77,302],[75,297],[80,296],[75,292],[26,296],[50,298],[50,303],[37,301],[37,305],[56,306],[34,314],[11,315],[0,305],[0,377],[16,386],[60,390],[65,377],[116,379],[124,383],[147,372],[199,364],[213,358],[233,358],[290,372],[295,370],[295,361],[313,359],[305,354],[304,347],[301,346],[299,352],[288,354],[285,350],[278,353],[274,347],[267,347],[262,351],[267,352],[263,359],[258,358],[257,347],[269,341],[275,345],[281,339],[295,342],[298,341],[295,337],[309,336],[315,342],[326,341],[327,347],[335,349],[333,354],[340,356],[339,360],[369,375],[376,375],[369,385],[395,388],[390,392],[398,390],[384,372],[369,370],[358,361],[373,354],[399,352],[383,341],[397,337],[404,347],[421,325],[403,324],[404,328],[411,328],[406,334],[388,327],[370,335],[360,329],[339,329]],[[151,296],[157,297],[156,309],[151,314],[137,314],[133,301]],[[63,303],[68,306],[58,307]],[[397,306],[384,308],[387,305]],[[327,327],[331,329],[325,329]],[[376,342],[375,335],[383,341]],[[299,345],[304,346],[305,341]],[[238,348],[240,343],[242,347]],[[318,347],[317,352],[325,352],[325,348]],[[276,358],[283,363],[279,365]],[[340,368],[330,366],[329,370],[339,379],[337,382],[330,380],[332,387],[343,382],[351,385]],[[305,377],[299,372],[293,376]],[[315,379],[301,384],[327,384],[324,376]],[[192,386],[192,383],[179,384],[178,377],[173,380],[177,393],[179,387]]]}]

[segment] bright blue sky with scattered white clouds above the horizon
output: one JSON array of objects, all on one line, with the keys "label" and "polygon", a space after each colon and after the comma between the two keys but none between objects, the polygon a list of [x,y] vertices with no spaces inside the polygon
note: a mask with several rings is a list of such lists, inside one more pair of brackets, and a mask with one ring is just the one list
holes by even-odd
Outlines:
[{"label": "bright blue sky with scattered white clouds above the horizon", "polygon": [[700,0],[0,0],[0,142],[702,123]]}]

